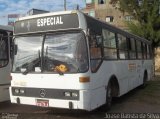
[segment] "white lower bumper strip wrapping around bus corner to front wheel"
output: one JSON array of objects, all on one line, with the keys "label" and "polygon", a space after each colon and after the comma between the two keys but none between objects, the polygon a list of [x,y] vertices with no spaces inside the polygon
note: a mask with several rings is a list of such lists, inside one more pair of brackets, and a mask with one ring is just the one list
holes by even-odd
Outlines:
[{"label": "white lower bumper strip wrapping around bus corner to front wheel", "polygon": [[[49,102],[49,107],[55,108],[66,108],[69,109],[69,103],[72,103],[71,109],[82,109],[91,111],[97,107],[100,107],[105,103],[105,95],[103,87],[94,90],[79,90],[80,99],[79,100],[64,100],[64,99],[54,99],[54,98],[38,98],[38,97],[25,97],[25,96],[13,96],[12,89],[10,87],[10,99],[12,103],[18,103],[17,99],[20,100],[18,104],[34,105],[37,106],[37,100],[47,100]],[[102,100],[99,100],[102,99]]]}]

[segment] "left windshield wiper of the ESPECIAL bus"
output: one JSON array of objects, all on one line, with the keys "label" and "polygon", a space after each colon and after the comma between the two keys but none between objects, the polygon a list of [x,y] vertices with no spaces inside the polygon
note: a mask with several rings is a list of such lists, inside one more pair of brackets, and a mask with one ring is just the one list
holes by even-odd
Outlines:
[{"label": "left windshield wiper of the ESPECIAL bus", "polygon": [[41,61],[40,50],[38,50],[38,58],[36,60],[34,60],[33,62],[30,62],[27,65],[27,69],[22,74],[24,74],[24,75],[28,74],[28,72],[30,72],[33,69],[33,66],[38,64],[40,61]]}]

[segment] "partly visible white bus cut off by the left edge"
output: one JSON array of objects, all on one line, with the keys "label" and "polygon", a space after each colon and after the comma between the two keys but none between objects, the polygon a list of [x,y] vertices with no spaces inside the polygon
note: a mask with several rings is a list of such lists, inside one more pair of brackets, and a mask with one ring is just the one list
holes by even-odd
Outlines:
[{"label": "partly visible white bus cut off by the left edge", "polygon": [[0,25],[0,102],[9,100],[12,32],[11,26]]}]

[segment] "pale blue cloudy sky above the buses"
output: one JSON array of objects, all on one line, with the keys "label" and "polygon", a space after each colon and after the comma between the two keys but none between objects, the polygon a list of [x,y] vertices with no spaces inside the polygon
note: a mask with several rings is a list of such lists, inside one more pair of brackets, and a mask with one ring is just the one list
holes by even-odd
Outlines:
[{"label": "pale blue cloudy sky above the buses", "polygon": [[[66,0],[67,10],[85,7],[85,0]],[[64,10],[64,0],[0,0],[0,25],[8,24],[8,14],[26,14],[30,9],[46,11]]]}]

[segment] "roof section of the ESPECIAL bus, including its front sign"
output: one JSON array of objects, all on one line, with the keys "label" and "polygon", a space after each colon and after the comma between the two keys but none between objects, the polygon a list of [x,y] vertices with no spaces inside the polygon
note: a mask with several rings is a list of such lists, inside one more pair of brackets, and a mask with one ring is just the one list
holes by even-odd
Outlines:
[{"label": "roof section of the ESPECIAL bus, including its front sign", "polygon": [[[61,21],[62,19],[64,20]],[[84,23],[83,20],[85,20],[84,22],[86,23]],[[142,37],[124,31],[120,28],[117,28],[104,21],[91,17],[78,10],[50,12],[21,17],[15,22],[14,34],[20,35],[26,33],[48,32],[79,28],[86,30],[89,27],[92,27],[97,31],[98,29],[106,28],[114,33],[119,33],[130,38],[132,37],[150,43],[150,41]]]}]

